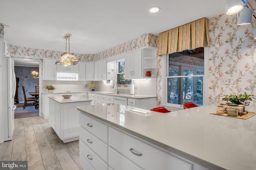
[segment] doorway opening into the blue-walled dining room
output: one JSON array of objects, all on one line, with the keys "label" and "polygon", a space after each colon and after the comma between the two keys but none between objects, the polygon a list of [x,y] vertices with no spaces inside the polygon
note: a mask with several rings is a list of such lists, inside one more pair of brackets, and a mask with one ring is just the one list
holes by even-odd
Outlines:
[{"label": "doorway opening into the blue-walled dining room", "polygon": [[[41,116],[41,84],[42,84],[42,60],[33,60],[33,59],[16,59],[14,60],[14,72],[18,78],[15,105],[16,109],[14,110],[14,118],[23,118],[23,117],[34,117]],[[39,78],[32,76],[32,71],[38,72]],[[16,80],[17,82],[17,80]],[[35,92],[35,86],[39,86],[39,107],[36,109],[35,106],[24,106],[24,93],[22,86],[25,88],[26,98],[34,97],[30,96],[29,92]],[[17,94],[18,93],[18,94]]]}]

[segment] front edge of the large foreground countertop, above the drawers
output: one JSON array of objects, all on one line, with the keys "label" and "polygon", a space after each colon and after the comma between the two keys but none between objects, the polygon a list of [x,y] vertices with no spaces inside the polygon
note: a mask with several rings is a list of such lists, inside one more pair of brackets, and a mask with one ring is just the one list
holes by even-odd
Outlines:
[{"label": "front edge of the large foreground countertop, above the drawers", "polygon": [[140,138],[140,139],[142,139],[142,140],[144,140],[144,141],[147,141],[147,142],[149,142],[150,144],[156,145],[157,147],[160,147],[160,148],[163,149],[163,150],[167,150],[167,151],[172,152],[172,153],[174,153],[174,154],[176,154],[176,155],[178,155],[178,156],[181,156],[182,158],[185,158],[185,159],[187,159],[187,160],[190,160],[190,161],[192,161],[192,162],[195,162],[196,164],[199,164],[199,165],[201,165],[201,166],[204,166],[205,168],[208,168],[208,169],[210,169],[210,170],[212,170],[212,169],[227,170],[226,168],[220,167],[220,166],[218,166],[218,165],[216,165],[216,164],[212,164],[212,163],[210,163],[210,162],[208,162],[208,161],[206,161],[206,160],[202,160],[201,158],[198,158],[198,157],[196,157],[196,156],[193,156],[193,155],[191,155],[191,154],[188,154],[188,153],[186,153],[186,152],[184,152],[184,151],[182,151],[182,150],[178,150],[178,149],[173,148],[173,147],[171,147],[171,146],[165,145],[165,144],[160,143],[160,142],[158,142],[158,141],[156,141],[156,140],[154,140],[154,139],[151,139],[151,138],[149,138],[149,137],[146,137],[146,136],[144,136],[144,135],[142,135],[142,134],[140,134],[140,133],[136,133],[135,131],[132,131],[132,130],[130,130],[130,129],[127,129],[127,128],[125,128],[125,127],[122,127],[122,126],[120,126],[120,125],[117,125],[117,124],[115,124],[115,123],[112,123],[111,121],[108,121],[108,120],[103,119],[103,118],[101,118],[101,117],[98,117],[98,116],[96,116],[96,115],[90,114],[90,113],[88,113],[88,112],[86,112],[86,111],[80,109],[79,107],[77,107],[77,109],[78,109],[78,111],[80,111],[80,112],[83,113],[83,114],[89,115],[90,117],[93,117],[93,118],[95,118],[95,119],[98,119],[98,120],[100,120],[100,121],[102,121],[102,122],[104,122],[104,123],[107,123],[107,124],[109,124],[109,125],[111,125],[111,126],[113,126],[113,127],[116,127],[117,129],[120,129],[120,130],[122,130],[122,131],[125,131],[126,133],[129,133],[130,135],[134,135],[134,136],[136,136],[136,137],[138,137],[138,138]]}]

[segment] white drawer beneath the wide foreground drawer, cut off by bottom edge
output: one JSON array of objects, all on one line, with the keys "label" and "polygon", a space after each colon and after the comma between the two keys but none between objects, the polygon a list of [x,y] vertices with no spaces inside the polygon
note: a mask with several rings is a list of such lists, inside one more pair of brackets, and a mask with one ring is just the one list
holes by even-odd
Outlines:
[{"label": "white drawer beneath the wide foreground drawer, cut off by bottom edge", "polygon": [[112,147],[108,147],[108,164],[114,170],[142,170]]}]

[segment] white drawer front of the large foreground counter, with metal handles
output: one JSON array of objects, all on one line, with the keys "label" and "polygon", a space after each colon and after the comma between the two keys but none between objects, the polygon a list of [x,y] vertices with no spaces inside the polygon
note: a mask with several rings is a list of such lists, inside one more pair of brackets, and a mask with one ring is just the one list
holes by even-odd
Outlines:
[{"label": "white drawer front of the large foreground counter, with metal handles", "polygon": [[84,113],[80,113],[80,156],[84,170],[205,170]]}]

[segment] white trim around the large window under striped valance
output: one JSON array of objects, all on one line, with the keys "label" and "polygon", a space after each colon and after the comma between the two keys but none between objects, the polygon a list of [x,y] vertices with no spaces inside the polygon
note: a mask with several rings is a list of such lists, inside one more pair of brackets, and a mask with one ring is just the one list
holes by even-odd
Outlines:
[{"label": "white trim around the large window under striped valance", "polygon": [[[169,55],[162,55],[162,104],[161,106],[166,106],[170,109],[183,109],[183,105],[180,104],[168,104],[167,98],[168,98],[168,86],[167,86],[167,78],[166,76],[169,75]],[[167,69],[168,68],[168,69]],[[207,105],[209,104],[208,101],[208,47],[204,47],[204,82],[203,82],[203,104]],[[202,75],[198,75],[202,76]],[[158,96],[161,96],[160,94]]]}]

